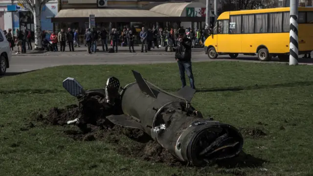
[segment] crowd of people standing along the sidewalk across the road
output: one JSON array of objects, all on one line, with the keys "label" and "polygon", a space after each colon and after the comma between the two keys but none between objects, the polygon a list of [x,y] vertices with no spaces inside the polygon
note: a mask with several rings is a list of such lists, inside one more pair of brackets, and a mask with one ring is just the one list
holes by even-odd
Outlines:
[{"label": "crowd of people standing along the sidewalk across the road", "polygon": [[[16,54],[26,53],[26,44],[28,45],[28,50],[32,50],[31,41],[33,37],[30,30],[26,29],[23,31],[16,29],[16,37],[13,37],[12,29],[9,29],[8,32],[4,30],[4,33],[10,43],[12,51],[14,51],[14,46],[17,46],[18,51]],[[191,28],[186,28],[185,33],[186,37],[192,41],[192,47],[197,44],[203,46],[205,38],[208,36],[204,28],[196,31]],[[46,32],[43,31],[42,44],[47,51],[59,51],[59,45],[60,51],[64,52],[66,45],[68,45],[69,51],[73,52],[74,47],[80,47],[80,35],[85,36],[85,46],[88,46],[88,53],[95,53],[97,51],[98,42],[100,41],[103,51],[118,52],[118,47],[128,46],[130,52],[136,52],[134,44],[137,42],[141,43],[141,52],[148,52],[151,51],[151,48],[159,48],[166,45],[176,47],[178,29],[168,27],[163,29],[158,26],[153,26],[148,29],[142,27],[142,30],[138,33],[134,26],[125,26],[123,29],[112,28],[111,31],[107,31],[105,28],[102,30],[88,28],[85,34],[80,34],[78,30],[68,28],[67,32],[64,29],[61,29],[58,33],[53,31],[50,35],[50,40],[46,39]],[[108,48],[108,44],[111,44],[112,47]]]}]

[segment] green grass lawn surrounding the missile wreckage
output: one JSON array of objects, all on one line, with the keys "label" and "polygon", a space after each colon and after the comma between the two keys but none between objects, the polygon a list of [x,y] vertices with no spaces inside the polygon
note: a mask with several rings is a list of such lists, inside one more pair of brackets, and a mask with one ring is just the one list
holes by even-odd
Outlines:
[{"label": "green grass lawn surrounding the missile wreckage", "polygon": [[76,103],[62,88],[68,76],[86,89],[102,88],[109,76],[124,86],[134,81],[131,69],[166,90],[180,87],[175,64],[58,66],[1,78],[1,176],[313,175],[312,66],[193,64],[196,87],[201,90],[192,101],[194,107],[237,128],[260,128],[267,133],[261,138],[244,134],[245,153],[268,161],[259,167],[176,168],[116,154],[105,141],[74,141],[61,127],[35,124],[29,131],[20,131],[33,112]]}]

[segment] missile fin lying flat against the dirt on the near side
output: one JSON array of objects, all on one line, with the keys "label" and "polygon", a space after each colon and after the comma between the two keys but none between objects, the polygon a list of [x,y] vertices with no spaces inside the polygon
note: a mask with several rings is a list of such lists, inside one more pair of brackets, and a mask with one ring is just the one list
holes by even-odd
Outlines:
[{"label": "missile fin lying flat against the dirt on the near side", "polygon": [[122,114],[122,115],[109,115],[107,119],[110,120],[115,125],[120,125],[127,128],[135,128],[145,131],[141,123],[136,122],[132,119],[131,116]]}]

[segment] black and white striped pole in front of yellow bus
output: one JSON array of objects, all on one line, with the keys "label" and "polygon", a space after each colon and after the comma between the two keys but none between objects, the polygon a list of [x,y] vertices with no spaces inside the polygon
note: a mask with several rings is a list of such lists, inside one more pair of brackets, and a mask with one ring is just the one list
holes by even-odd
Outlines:
[{"label": "black and white striped pole in front of yellow bus", "polygon": [[298,65],[298,0],[290,0],[289,65]]}]

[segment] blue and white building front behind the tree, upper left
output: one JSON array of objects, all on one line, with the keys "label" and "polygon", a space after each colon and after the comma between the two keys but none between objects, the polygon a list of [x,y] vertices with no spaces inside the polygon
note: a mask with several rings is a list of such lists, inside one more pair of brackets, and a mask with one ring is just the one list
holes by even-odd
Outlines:
[{"label": "blue and white building front behind the tree, upper left", "polygon": [[[41,12],[42,30],[51,32],[53,23],[51,18],[58,14],[58,0],[51,0],[44,5]],[[25,30],[34,32],[34,16],[27,11],[17,0],[0,0],[0,28],[2,30]],[[34,35],[32,35],[34,36]]]}]

